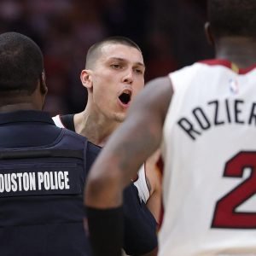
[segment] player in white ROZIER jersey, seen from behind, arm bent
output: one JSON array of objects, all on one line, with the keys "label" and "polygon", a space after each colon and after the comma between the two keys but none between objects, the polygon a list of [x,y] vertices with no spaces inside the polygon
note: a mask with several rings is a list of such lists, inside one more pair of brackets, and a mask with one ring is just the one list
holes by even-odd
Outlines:
[{"label": "player in white ROZIER jersey, seen from behind, arm bent", "polygon": [[[111,212],[113,236],[122,233],[114,221],[122,189],[161,143],[159,255],[256,255],[255,13],[254,0],[208,0],[216,58],[155,79],[137,96],[87,180],[94,246],[102,244],[102,212]],[[119,246],[115,239],[112,246]],[[104,255],[119,255],[109,251]]]}]

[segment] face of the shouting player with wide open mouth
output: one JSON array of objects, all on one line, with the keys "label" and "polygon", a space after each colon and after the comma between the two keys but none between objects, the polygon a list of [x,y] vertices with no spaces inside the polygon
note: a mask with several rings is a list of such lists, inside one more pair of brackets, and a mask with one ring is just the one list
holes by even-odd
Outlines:
[{"label": "face of the shouting player with wide open mouth", "polygon": [[92,71],[93,104],[108,119],[122,122],[144,86],[142,53],[123,44],[105,44]]}]

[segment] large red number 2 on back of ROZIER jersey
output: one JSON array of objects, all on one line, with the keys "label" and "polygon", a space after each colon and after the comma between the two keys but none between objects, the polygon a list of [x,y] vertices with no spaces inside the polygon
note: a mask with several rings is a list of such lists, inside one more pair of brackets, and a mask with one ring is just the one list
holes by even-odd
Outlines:
[{"label": "large red number 2 on back of ROZIER jersey", "polygon": [[256,194],[256,152],[240,152],[230,159],[224,177],[242,177],[245,168],[251,169],[250,177],[224,195],[215,206],[212,228],[255,229],[256,212],[236,212],[236,208]]}]

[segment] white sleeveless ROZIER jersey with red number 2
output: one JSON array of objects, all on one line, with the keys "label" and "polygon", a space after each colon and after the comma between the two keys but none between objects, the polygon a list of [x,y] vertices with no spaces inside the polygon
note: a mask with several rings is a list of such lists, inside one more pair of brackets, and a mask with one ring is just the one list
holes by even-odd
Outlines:
[{"label": "white sleeveless ROZIER jersey with red number 2", "polygon": [[256,255],[256,68],[230,67],[169,75],[160,256]]}]

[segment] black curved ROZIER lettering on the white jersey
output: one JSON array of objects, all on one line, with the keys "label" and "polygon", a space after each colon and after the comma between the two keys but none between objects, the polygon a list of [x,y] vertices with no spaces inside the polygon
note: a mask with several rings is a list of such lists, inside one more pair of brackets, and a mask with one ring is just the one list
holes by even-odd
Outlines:
[{"label": "black curved ROZIER lettering on the white jersey", "polygon": [[177,125],[193,140],[212,126],[227,124],[256,125],[256,102],[245,108],[245,102],[240,99],[214,100],[204,107],[193,108],[189,117],[177,121]]}]

